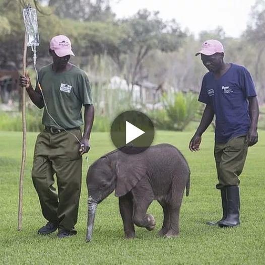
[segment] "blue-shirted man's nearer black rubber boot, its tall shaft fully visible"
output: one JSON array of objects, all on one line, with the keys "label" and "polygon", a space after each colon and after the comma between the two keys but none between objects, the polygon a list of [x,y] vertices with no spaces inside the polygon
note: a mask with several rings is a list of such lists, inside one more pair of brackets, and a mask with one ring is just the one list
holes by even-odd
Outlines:
[{"label": "blue-shirted man's nearer black rubber boot, its tall shaft fully visible", "polygon": [[220,227],[235,227],[240,224],[239,186],[227,186],[227,217],[219,222]]}]

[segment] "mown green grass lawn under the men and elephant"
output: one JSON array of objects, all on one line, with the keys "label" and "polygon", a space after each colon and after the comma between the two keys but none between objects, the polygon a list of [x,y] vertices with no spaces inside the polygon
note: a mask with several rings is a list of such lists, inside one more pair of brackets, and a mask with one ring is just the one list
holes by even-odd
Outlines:
[{"label": "mown green grass lawn under the men and elephant", "polygon": [[[157,236],[162,225],[162,208],[153,202],[148,212],[157,226],[154,231],[136,227],[137,237],[123,239],[118,199],[112,193],[97,209],[91,243],[86,243],[87,161],[83,163],[78,234],[59,240],[56,233],[38,236],[46,220],[42,217],[31,181],[33,150],[37,134],[27,134],[27,159],[23,192],[22,231],[17,231],[19,175],[22,134],[0,131],[0,263],[1,264],[264,264],[264,156],[265,131],[249,149],[241,184],[241,225],[219,228],[206,225],[221,218],[220,191],[213,158],[213,132],[203,137],[201,151],[191,153],[188,143],[193,132],[157,131],[154,143],[170,143],[179,148],[191,169],[190,195],[183,198],[180,235]],[[109,134],[93,133],[89,163],[114,149]]]}]

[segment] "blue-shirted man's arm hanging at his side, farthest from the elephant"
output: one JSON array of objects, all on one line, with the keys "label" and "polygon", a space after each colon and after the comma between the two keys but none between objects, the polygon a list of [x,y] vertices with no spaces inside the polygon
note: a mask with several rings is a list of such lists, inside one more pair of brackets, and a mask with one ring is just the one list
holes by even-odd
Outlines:
[{"label": "blue-shirted man's arm hanging at his side, farthest from the elephant", "polygon": [[249,115],[251,123],[250,123],[250,128],[248,130],[246,141],[248,143],[248,146],[253,146],[258,141],[257,121],[259,115],[259,108],[258,108],[257,97],[249,97],[248,102],[249,102]]}]

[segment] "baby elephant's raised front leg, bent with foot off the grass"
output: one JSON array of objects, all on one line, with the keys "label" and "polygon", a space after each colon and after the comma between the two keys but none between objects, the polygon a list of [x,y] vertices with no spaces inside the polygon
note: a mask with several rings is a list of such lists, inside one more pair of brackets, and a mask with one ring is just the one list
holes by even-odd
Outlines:
[{"label": "baby elephant's raised front leg, bent with foot off the grass", "polygon": [[145,227],[151,231],[155,229],[155,218],[147,214],[147,209],[154,200],[154,193],[151,189],[134,188],[131,190],[134,200],[134,215],[132,221],[139,227]]}]

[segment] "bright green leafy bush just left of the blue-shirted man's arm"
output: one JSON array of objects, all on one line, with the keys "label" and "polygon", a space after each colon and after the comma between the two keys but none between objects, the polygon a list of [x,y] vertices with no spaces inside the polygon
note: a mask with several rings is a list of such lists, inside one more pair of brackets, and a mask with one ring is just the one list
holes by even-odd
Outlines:
[{"label": "bright green leafy bush just left of the blue-shirted man's arm", "polygon": [[177,92],[163,96],[164,110],[156,110],[150,115],[157,129],[183,131],[197,117],[201,104],[193,93]]}]

